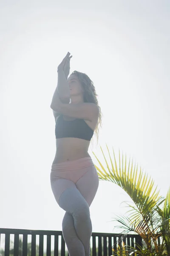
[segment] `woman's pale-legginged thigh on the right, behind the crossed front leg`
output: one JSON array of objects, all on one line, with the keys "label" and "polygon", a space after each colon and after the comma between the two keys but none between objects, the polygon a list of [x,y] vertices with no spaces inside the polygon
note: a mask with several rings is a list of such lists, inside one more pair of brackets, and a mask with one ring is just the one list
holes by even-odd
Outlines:
[{"label": "woman's pale-legginged thigh on the right, behind the crossed front leg", "polygon": [[99,176],[95,166],[89,167],[89,171],[77,181],[76,186],[90,207],[99,187]]}]

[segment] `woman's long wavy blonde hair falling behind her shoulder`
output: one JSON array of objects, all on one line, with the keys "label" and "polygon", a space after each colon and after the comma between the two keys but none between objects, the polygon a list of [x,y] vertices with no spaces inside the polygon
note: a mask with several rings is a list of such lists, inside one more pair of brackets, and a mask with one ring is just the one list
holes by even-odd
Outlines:
[{"label": "woman's long wavy blonde hair falling behind her shoulder", "polygon": [[[77,76],[82,85],[82,88],[84,90],[84,92],[83,92],[84,102],[95,103],[99,107],[99,103],[98,103],[98,99],[97,99],[98,94],[96,94],[96,89],[95,89],[94,84],[91,81],[91,79],[85,73],[81,73],[76,70],[73,73],[71,73],[71,75]],[[103,114],[102,114],[101,108],[99,107],[99,118],[98,118],[96,128],[94,130],[94,134],[97,139],[97,144],[99,141],[99,128],[102,127],[102,116],[103,116]],[[92,138],[91,142],[93,144],[93,138]]]}]

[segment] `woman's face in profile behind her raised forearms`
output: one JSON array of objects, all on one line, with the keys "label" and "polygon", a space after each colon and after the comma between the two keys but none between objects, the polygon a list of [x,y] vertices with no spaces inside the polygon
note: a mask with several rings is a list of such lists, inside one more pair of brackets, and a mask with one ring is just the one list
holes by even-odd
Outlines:
[{"label": "woman's face in profile behind her raised forearms", "polygon": [[70,95],[82,95],[82,85],[76,75],[71,75],[68,77],[68,85],[70,88]]}]

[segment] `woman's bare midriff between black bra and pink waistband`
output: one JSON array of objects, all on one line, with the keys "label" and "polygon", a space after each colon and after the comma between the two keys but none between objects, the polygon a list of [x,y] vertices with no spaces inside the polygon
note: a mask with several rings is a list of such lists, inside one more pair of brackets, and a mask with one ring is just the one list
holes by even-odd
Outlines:
[{"label": "woman's bare midriff between black bra and pink waistband", "polygon": [[52,164],[89,157],[89,145],[90,141],[79,138],[56,139],[56,154]]}]

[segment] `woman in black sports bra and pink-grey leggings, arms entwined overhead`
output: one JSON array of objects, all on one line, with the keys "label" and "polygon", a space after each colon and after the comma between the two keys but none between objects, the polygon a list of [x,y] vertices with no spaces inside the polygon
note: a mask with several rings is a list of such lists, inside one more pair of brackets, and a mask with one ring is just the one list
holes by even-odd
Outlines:
[{"label": "woman in black sports bra and pink-grey leggings, arms entwined overhead", "polygon": [[50,180],[59,207],[66,211],[62,234],[69,255],[89,256],[92,234],[89,207],[99,177],[88,147],[94,131],[98,140],[102,113],[89,77],[74,71],[68,78],[71,57],[68,52],[58,66],[58,83],[51,102],[57,150]]}]

